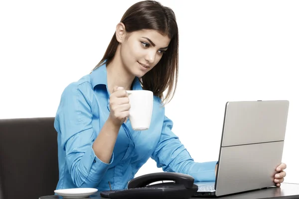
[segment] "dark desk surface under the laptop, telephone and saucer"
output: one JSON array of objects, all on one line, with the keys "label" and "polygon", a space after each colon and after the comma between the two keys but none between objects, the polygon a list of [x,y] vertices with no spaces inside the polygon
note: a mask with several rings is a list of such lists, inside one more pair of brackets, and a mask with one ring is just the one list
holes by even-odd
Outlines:
[{"label": "dark desk surface under the laptop, telephone and saucer", "polygon": [[[90,198],[101,199],[100,192],[90,196]],[[62,197],[53,195],[39,197],[39,199],[62,199]],[[272,187],[243,194],[219,197],[219,199],[299,199],[299,184],[282,183],[280,188]]]}]

